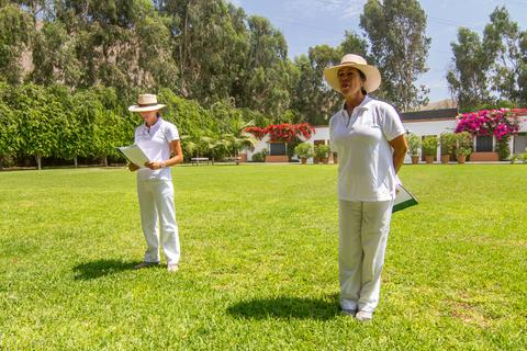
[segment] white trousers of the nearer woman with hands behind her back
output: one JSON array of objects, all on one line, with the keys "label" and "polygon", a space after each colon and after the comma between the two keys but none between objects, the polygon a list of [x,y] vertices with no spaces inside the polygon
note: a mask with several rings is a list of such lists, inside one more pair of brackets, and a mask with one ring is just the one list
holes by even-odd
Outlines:
[{"label": "white trousers of the nearer woman with hands behind her back", "polygon": [[393,201],[339,201],[340,307],[373,312],[379,303]]}]

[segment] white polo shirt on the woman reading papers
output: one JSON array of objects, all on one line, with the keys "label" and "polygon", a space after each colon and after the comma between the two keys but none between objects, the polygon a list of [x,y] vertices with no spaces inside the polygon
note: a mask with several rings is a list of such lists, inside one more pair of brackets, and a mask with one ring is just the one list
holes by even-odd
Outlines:
[{"label": "white polo shirt on the woman reading papers", "polygon": [[[178,128],[159,117],[152,127],[146,124],[135,128],[135,144],[141,147],[150,161],[166,161],[170,158],[170,141],[179,140]],[[171,180],[170,168],[137,170],[138,180]]]}]

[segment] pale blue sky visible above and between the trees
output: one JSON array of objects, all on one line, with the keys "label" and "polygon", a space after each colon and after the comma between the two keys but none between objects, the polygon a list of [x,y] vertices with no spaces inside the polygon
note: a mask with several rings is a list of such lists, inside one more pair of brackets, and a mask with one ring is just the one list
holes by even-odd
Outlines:
[{"label": "pale blue sky visible above and between the trees", "polygon": [[[359,26],[359,16],[366,0],[229,0],[242,7],[247,14],[269,19],[288,42],[291,59],[307,54],[310,47],[321,44],[337,46],[345,31],[365,36]],[[460,26],[466,26],[480,36],[489,15],[496,7],[504,5],[511,19],[527,30],[527,0],[421,0],[427,14],[427,36],[431,38],[428,52],[428,71],[417,83],[430,89],[430,102],[449,99],[446,80],[452,65],[450,43],[457,42]]]}]

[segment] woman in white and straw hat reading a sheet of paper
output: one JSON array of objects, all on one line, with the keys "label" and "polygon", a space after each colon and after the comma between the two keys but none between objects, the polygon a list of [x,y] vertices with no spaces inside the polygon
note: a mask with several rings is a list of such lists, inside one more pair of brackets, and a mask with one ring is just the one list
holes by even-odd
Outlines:
[{"label": "woman in white and straw hat reading a sheet of paper", "polygon": [[[170,166],[183,161],[178,128],[161,118],[157,97],[142,94],[137,104],[128,107],[138,112],[144,123],[135,129],[135,144],[150,160],[144,167],[130,163],[131,171],[137,171],[137,195],[141,207],[141,225],[147,249],[144,261],[136,269],[159,264],[159,239],[167,260],[168,271],[178,270],[180,249],[173,184]],[[160,238],[157,233],[160,225]]]}]

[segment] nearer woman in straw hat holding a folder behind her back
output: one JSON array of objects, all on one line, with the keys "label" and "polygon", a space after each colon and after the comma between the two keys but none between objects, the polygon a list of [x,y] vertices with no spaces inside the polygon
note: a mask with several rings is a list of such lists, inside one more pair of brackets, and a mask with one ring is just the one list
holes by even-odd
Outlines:
[{"label": "nearer woman in straw hat holding a folder behind her back", "polygon": [[379,303],[396,173],[407,150],[405,131],[395,109],[369,95],[381,75],[362,57],[345,55],[324,76],[346,100],[329,121],[339,160],[340,307],[370,320]]}]

